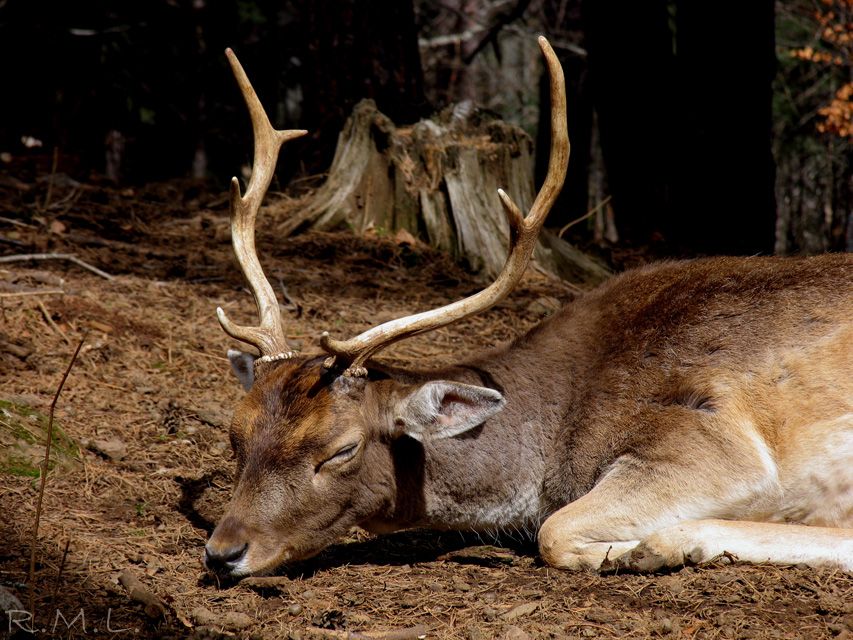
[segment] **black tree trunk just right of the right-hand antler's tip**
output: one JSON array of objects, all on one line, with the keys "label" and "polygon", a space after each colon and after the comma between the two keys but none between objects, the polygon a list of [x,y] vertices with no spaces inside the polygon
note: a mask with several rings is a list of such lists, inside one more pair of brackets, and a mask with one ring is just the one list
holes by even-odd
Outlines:
[{"label": "black tree trunk just right of the right-hand antler's tip", "polygon": [[589,82],[620,227],[648,234],[668,207],[673,53],[666,0],[585,0]]}]

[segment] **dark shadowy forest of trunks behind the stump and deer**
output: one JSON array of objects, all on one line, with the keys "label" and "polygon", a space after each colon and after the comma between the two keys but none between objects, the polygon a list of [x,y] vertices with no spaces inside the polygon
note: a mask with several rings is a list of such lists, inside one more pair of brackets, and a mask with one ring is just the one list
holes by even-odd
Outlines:
[{"label": "dark shadowy forest of trunks behind the stump and deer", "polygon": [[850,14],[848,0],[0,0],[0,172],[56,148],[77,180],[225,184],[251,153],[226,47],[274,124],[310,131],[283,154],[281,184],[328,169],[365,97],[398,124],[471,100],[544,141],[544,34],[573,147],[549,226],[611,196],[578,233],[845,251]]}]

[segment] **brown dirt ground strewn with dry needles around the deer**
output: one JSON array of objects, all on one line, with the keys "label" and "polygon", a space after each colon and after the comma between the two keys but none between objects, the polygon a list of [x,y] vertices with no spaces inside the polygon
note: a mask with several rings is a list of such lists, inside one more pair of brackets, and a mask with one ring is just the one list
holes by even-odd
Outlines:
[{"label": "brown dirt ground strewn with dry needles around the deer", "polygon": [[[70,638],[851,637],[850,574],[725,558],[652,576],[565,573],[513,535],[354,531],[278,576],[217,581],[202,548],[229,498],[242,391],[214,311],[254,321],[224,195],[49,175],[49,163],[0,175],[0,256],[71,254],[114,279],[65,259],[0,263],[0,596],[24,608],[49,407],[83,342],[56,405],[35,619],[3,614],[0,637],[29,637],[25,626]],[[298,303],[285,316],[306,349],[323,330],[352,335],[480,287],[424,247],[344,233],[279,241],[279,222],[261,218],[258,245]],[[447,362],[572,295],[529,273],[498,308],[387,357]]]}]

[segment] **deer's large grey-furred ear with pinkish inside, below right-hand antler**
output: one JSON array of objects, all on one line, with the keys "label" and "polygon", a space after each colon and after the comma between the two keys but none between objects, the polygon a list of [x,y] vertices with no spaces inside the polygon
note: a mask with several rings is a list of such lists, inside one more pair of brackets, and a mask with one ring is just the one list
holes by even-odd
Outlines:
[{"label": "deer's large grey-furred ear with pinkish inside, below right-hand antler", "polygon": [[421,442],[459,435],[503,409],[500,392],[435,380],[416,387],[397,404],[393,432]]}]

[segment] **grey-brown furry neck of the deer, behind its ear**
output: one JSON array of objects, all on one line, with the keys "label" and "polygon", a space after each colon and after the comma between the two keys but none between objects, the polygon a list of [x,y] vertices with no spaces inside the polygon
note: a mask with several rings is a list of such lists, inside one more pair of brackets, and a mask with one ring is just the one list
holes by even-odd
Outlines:
[{"label": "grey-brown furry neck of the deer, behind its ear", "polygon": [[549,413],[557,408],[543,402],[553,396],[542,393],[541,381],[538,386],[532,380],[524,384],[519,380],[524,374],[509,362],[501,350],[422,377],[405,374],[406,382],[441,378],[487,386],[501,391],[508,402],[499,414],[459,436],[396,440],[391,445],[394,497],[365,528],[376,533],[423,526],[531,534],[538,529],[556,508],[543,488],[555,424]]}]

